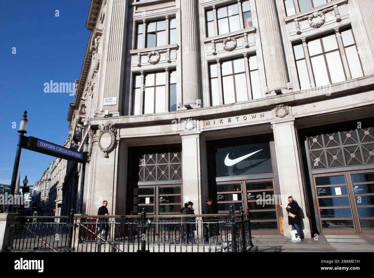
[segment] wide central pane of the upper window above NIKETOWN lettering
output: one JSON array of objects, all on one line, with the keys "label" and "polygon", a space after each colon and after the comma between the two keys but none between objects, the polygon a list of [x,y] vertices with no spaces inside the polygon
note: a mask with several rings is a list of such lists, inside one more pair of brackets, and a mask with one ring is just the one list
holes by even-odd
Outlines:
[{"label": "wide central pane of the upper window above NIKETOWN lettering", "polygon": [[240,30],[239,9],[237,3],[217,9],[218,35]]}]

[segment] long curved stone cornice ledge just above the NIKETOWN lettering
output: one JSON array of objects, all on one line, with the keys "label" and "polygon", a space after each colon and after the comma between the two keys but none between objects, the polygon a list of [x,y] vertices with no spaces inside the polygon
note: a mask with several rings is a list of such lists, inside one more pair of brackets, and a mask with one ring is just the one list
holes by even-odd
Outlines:
[{"label": "long curved stone cornice ledge just above the NIKETOWN lettering", "polygon": [[[278,104],[292,104],[292,103],[309,103],[320,99],[334,98],[343,96],[344,94],[353,94],[365,91],[374,90],[374,74],[364,76],[357,79],[340,82],[337,84],[329,85],[328,87],[311,88],[309,90],[298,91],[295,93],[288,93],[276,96],[268,96],[263,99],[249,100],[236,104],[226,104],[221,106],[210,106],[200,109],[181,110],[177,112],[166,112],[150,115],[137,115],[137,116],[118,116],[111,118],[93,118],[91,119],[91,126],[95,128],[100,123],[109,122],[116,124],[116,126],[144,126],[144,125],[157,125],[168,124],[175,119],[209,119],[217,117],[217,115],[230,115],[234,111],[237,113],[255,113],[255,111],[263,110],[266,107],[272,109]],[[326,93],[328,91],[328,94]]]}]

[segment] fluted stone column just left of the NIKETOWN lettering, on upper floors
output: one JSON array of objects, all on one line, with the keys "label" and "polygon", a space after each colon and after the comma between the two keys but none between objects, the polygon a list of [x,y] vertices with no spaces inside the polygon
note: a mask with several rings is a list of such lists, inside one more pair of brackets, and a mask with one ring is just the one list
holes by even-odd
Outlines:
[{"label": "fluted stone column just left of the NIKETOWN lettering, on upper floors", "polygon": [[182,23],[182,91],[183,106],[197,106],[200,100],[199,36],[197,31],[197,1],[181,1]]}]

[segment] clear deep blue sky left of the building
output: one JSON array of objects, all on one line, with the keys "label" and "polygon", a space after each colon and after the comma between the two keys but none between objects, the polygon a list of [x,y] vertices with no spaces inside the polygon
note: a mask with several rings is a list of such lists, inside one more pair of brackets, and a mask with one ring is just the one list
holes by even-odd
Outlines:
[{"label": "clear deep blue sky left of the building", "polygon": [[[27,134],[63,144],[74,96],[44,93],[44,83],[79,78],[89,37],[89,0],[0,0],[0,183],[10,184],[18,125],[27,110]],[[59,10],[59,17],[55,16]],[[16,47],[16,54],[12,48]],[[16,122],[16,129],[12,129]],[[29,185],[54,158],[22,150],[19,172]]]}]

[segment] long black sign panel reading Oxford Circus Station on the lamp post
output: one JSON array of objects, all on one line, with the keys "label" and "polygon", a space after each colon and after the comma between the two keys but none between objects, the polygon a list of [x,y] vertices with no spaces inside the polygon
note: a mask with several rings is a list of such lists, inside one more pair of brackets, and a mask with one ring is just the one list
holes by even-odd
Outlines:
[{"label": "long black sign panel reading Oxford Circus Station on the lamp post", "polygon": [[74,162],[86,162],[86,155],[81,152],[76,152],[74,150],[31,136],[25,136],[25,141],[22,143],[22,148],[38,153],[48,154],[50,156],[60,157],[62,159]]}]

